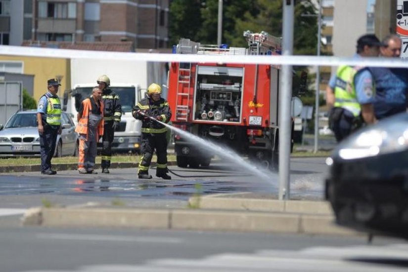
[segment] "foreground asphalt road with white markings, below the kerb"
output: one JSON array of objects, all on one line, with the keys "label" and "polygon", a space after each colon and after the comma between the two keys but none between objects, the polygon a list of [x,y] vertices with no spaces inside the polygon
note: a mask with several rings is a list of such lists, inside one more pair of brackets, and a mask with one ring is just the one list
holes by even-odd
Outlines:
[{"label": "foreground asphalt road with white markings, below the kerb", "polygon": [[0,228],[2,272],[402,272],[407,250],[383,238]]}]

